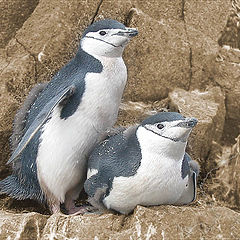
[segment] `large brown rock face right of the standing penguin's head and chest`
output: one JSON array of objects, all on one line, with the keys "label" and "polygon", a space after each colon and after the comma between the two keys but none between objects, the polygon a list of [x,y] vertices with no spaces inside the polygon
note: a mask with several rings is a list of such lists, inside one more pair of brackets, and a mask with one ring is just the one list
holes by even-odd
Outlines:
[{"label": "large brown rock face right of the standing penguin's head and chest", "polygon": [[230,7],[224,0],[103,1],[97,18],[122,21],[116,10],[121,8],[125,23],[140,33],[125,52],[129,69],[125,100],[155,101],[167,97],[174,87],[187,90],[211,85],[209,66],[215,61],[217,40]]}]

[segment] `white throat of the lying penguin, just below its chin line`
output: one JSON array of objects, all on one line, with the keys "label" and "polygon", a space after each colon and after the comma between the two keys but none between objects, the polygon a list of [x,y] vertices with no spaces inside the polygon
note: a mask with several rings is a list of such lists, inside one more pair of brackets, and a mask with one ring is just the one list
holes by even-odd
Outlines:
[{"label": "white throat of the lying penguin, just below its chin line", "polygon": [[156,154],[161,158],[168,158],[174,161],[181,161],[185,154],[186,142],[175,142],[163,138],[144,127],[139,127],[137,138],[141,149],[148,154]]}]

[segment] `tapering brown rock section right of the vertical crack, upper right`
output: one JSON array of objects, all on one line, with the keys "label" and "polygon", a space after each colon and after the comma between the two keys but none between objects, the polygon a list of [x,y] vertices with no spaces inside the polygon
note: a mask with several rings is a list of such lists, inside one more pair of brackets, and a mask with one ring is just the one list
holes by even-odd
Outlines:
[{"label": "tapering brown rock section right of the vertical crack, upper right", "polygon": [[231,9],[231,1],[183,1],[184,22],[190,46],[191,89],[212,83],[209,71],[218,53],[218,39]]}]

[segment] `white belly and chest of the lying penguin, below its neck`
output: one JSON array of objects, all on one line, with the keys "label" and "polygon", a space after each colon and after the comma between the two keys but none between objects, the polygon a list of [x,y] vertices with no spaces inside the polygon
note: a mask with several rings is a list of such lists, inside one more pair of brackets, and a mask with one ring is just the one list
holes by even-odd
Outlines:
[{"label": "white belly and chest of the lying penguin, below its neck", "polygon": [[142,159],[134,176],[114,178],[112,190],[103,203],[123,214],[131,212],[138,204],[174,204],[187,182],[188,176],[181,177],[181,161],[148,156]]}]

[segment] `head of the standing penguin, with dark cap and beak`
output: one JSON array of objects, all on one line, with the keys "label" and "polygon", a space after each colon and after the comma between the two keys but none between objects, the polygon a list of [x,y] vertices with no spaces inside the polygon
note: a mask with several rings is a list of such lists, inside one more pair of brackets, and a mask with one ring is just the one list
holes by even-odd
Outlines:
[{"label": "head of the standing penguin, with dark cap and beak", "polygon": [[121,57],[129,40],[137,34],[134,28],[105,19],[90,25],[84,31],[80,44],[85,52],[93,56]]}]

